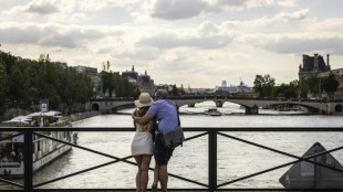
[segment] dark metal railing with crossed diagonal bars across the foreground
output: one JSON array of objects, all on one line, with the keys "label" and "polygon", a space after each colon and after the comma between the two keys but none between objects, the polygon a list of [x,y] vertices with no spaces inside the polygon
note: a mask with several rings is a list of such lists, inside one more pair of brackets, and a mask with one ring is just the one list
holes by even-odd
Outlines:
[{"label": "dark metal railing with crossed diagonal bars across the foreground", "polygon": [[[131,128],[43,128],[44,131],[84,131],[84,132],[92,132],[92,131],[114,131],[114,132],[127,132],[127,131],[133,131],[134,129]],[[12,137],[17,137],[19,135],[23,135],[24,136],[24,183],[20,184],[20,183],[15,183],[9,180],[4,180],[2,178],[0,178],[0,182],[4,182],[8,183],[10,185],[14,185],[18,188],[21,188],[22,190],[11,190],[11,191],[135,191],[135,189],[39,189],[40,186],[43,186],[45,184],[52,183],[52,182],[56,182],[63,179],[67,179],[70,177],[74,177],[81,173],[85,173],[98,168],[103,168],[113,163],[118,163],[118,162],[123,162],[123,163],[128,163],[128,164],[133,164],[136,166],[135,162],[129,161],[128,159],[133,158],[132,156],[128,157],[124,157],[124,158],[118,158],[112,154],[107,154],[107,153],[103,153],[93,149],[89,149],[82,146],[77,146],[77,145],[73,145],[66,141],[62,141],[55,138],[51,138],[49,136],[39,134],[40,131],[42,131],[42,128],[1,128],[1,131],[18,131],[19,134],[15,134],[13,136],[7,137],[7,138],[0,138],[0,142],[7,139],[10,139]],[[226,188],[229,184],[236,183],[238,181],[242,181],[242,180],[247,180],[267,172],[271,172],[288,166],[292,166],[294,163],[299,163],[302,161],[306,161],[309,163],[313,163],[315,166],[319,167],[323,167],[326,169],[331,169],[333,171],[337,171],[340,173],[343,173],[343,170],[337,169],[337,168],[333,168],[323,163],[319,163],[316,161],[313,161],[312,159],[315,157],[320,157],[330,152],[334,152],[334,151],[339,151],[343,149],[342,147],[336,147],[334,149],[330,149],[328,151],[323,151],[323,152],[319,152],[319,153],[314,153],[312,156],[309,157],[298,157],[278,149],[273,149],[271,147],[267,147],[263,145],[259,145],[256,142],[251,142],[249,140],[246,139],[241,139],[231,135],[228,135],[227,132],[342,132],[343,128],[184,128],[185,132],[200,132],[197,134],[195,136],[188,137],[186,138],[186,141],[189,140],[194,140],[197,139],[199,137],[202,136],[208,136],[208,182],[207,183],[201,183],[199,181],[195,181],[188,178],[184,178],[184,177],[179,177],[177,174],[174,173],[168,173],[169,177],[196,184],[198,186],[201,186],[201,189],[168,189],[168,191],[322,191],[323,189],[237,189],[237,188]],[[111,162],[106,162],[103,164],[98,164],[82,171],[77,171],[67,175],[63,175],[61,178],[56,178],[50,181],[45,181],[43,183],[38,183],[38,184],[33,184],[33,169],[32,169],[32,164],[33,164],[33,158],[32,156],[25,156],[25,154],[32,154],[33,152],[33,136],[40,136],[46,139],[51,139],[61,143],[65,143],[65,145],[70,145],[74,148],[77,149],[82,149],[82,150],[86,150],[103,157],[107,157],[113,159],[113,161]],[[217,168],[217,157],[218,157],[218,140],[217,140],[217,136],[221,136],[225,138],[229,138],[246,145],[250,145],[250,146],[254,146],[268,151],[272,151],[279,154],[283,154],[285,157],[290,157],[290,158],[294,158],[295,160],[288,162],[288,163],[283,163],[273,168],[269,168],[256,173],[251,173],[231,181],[227,181],[224,183],[218,183],[218,168]],[[149,168],[149,170],[154,170],[153,168]],[[343,189],[324,189],[325,191],[343,191]],[[0,189],[0,191],[3,191]]]}]

